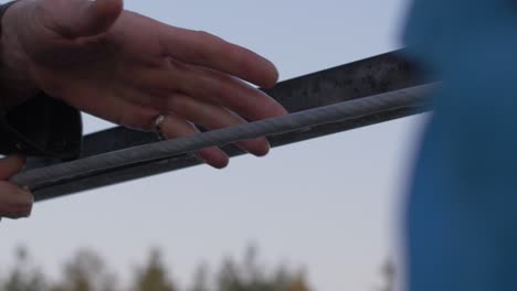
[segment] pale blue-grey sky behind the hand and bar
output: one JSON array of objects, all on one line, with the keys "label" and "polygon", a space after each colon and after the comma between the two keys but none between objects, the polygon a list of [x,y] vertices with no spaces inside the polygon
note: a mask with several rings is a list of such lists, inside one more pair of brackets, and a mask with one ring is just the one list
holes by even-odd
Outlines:
[{"label": "pale blue-grey sky behind the hand and bar", "polygon": [[[1,1],[4,2],[4,1]],[[401,47],[407,0],[128,0],[126,9],[203,30],[272,60],[281,79]],[[425,116],[39,203],[0,224],[0,273],[24,244],[57,273],[74,251],[101,252],[122,278],[150,247],[175,279],[241,257],[303,267],[315,290],[376,290],[400,260],[404,190]],[[85,132],[112,125],[85,116]]]}]

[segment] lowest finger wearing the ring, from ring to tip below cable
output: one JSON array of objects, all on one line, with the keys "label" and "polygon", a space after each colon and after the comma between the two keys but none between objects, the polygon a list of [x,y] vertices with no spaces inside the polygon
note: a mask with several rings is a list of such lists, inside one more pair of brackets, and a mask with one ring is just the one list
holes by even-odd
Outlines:
[{"label": "lowest finger wearing the ring, from ring to tip below cable", "polygon": [[[192,123],[178,117],[176,114],[168,114],[166,116],[161,130],[167,139],[199,133],[199,130]],[[217,169],[225,168],[230,160],[226,153],[218,147],[202,149],[196,153],[196,157]]]}]

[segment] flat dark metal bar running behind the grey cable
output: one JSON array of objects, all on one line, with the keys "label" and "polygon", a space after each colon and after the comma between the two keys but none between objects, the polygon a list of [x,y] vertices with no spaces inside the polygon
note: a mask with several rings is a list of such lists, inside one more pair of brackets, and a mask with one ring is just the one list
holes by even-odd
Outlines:
[{"label": "flat dark metal bar running behind the grey cable", "polygon": [[[309,108],[336,104],[339,101],[377,95],[395,89],[421,85],[415,71],[403,60],[401,52],[388,53],[344,66],[321,71],[295,79],[279,83],[265,90],[276,98],[289,111],[296,112]],[[407,108],[393,108],[380,114],[362,116],[331,125],[314,127],[302,132],[291,132],[271,138],[273,147],[321,137],[367,125],[378,123],[419,112],[420,108],[409,104]],[[156,142],[151,133],[115,128],[86,136],[82,158]],[[234,147],[223,148],[231,157],[242,154]],[[45,166],[60,161],[31,160],[30,169]],[[94,176],[66,181],[40,188],[34,192],[35,200],[63,196],[80,191],[110,185],[124,181],[145,177],[162,172],[196,165],[198,162],[190,154],[181,154],[167,160],[144,162],[141,164],[115,169]]]}]

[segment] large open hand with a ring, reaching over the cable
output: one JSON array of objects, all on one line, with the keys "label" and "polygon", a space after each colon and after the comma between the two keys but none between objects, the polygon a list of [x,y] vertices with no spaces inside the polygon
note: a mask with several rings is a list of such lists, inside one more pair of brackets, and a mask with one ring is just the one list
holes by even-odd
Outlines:
[{"label": "large open hand with a ring, reaching over the cable", "polygon": [[[204,32],[124,11],[122,0],[21,0],[4,15],[3,58],[29,88],[129,128],[151,130],[160,114],[167,138],[286,110],[245,82],[271,87],[274,65]],[[11,52],[11,53],[9,53]],[[238,144],[264,155],[264,138]],[[197,157],[215,168],[219,148]]]}]

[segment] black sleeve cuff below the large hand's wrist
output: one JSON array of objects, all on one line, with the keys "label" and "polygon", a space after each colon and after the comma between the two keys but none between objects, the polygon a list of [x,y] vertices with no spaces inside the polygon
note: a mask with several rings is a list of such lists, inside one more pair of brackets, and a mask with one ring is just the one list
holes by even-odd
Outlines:
[{"label": "black sleeve cuff below the large hand's wrist", "polygon": [[[0,21],[12,3],[0,6]],[[81,140],[80,111],[44,93],[13,108],[0,103],[0,154],[74,159]]]}]

